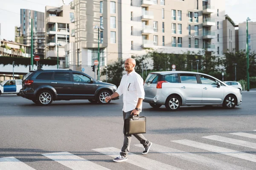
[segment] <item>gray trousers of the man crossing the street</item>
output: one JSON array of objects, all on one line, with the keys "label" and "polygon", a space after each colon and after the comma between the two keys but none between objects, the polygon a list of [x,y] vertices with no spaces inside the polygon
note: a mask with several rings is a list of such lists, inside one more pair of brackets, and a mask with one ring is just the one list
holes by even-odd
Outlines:
[{"label": "gray trousers of the man crossing the street", "polygon": [[[123,111],[123,118],[124,121],[125,119],[129,119],[131,118],[131,112],[132,111],[128,111],[128,112],[124,112]],[[125,127],[123,128],[123,133],[125,134]],[[141,144],[143,144],[144,147],[147,147],[150,142],[143,136],[143,134],[134,134],[133,136],[135,136]],[[122,152],[120,152],[120,155],[123,157],[127,157],[129,150],[130,150],[130,143],[131,143],[131,135],[124,135],[124,144],[122,147]]]}]

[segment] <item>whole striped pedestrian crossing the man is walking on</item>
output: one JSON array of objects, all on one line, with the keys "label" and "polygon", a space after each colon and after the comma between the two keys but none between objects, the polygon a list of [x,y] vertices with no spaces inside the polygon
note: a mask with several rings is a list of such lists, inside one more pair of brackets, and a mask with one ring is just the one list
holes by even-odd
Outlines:
[{"label": "whole striped pedestrian crossing the man is walking on", "polygon": [[[253,130],[252,133],[255,133]],[[256,140],[254,142],[248,142],[247,139],[250,139],[250,141],[253,141],[256,139],[256,135],[252,133],[243,133],[243,132],[236,132],[236,133],[229,133],[229,136],[232,135],[233,137],[238,136],[239,139],[229,138],[225,137],[225,134],[222,136],[218,135],[210,135],[210,136],[201,136],[204,143],[188,140],[188,139],[181,139],[181,140],[170,140],[169,144],[180,144],[180,146],[186,146],[183,147],[184,149],[177,150],[172,147],[166,147],[157,143],[152,144],[150,153],[154,153],[152,155],[158,155],[162,154],[165,155],[165,159],[167,161],[160,161],[161,159],[154,158],[154,156],[148,156],[148,155],[140,155],[138,153],[129,153],[128,154],[128,160],[122,163],[116,163],[113,162],[111,166],[107,166],[105,164],[97,164],[98,161],[92,161],[91,159],[87,159],[86,156],[77,156],[73,153],[69,152],[55,152],[55,153],[41,153],[42,156],[48,158],[49,160],[52,160],[56,162],[56,164],[61,164],[59,166],[65,166],[67,168],[70,168],[71,170],[111,170],[111,169],[127,169],[127,164],[132,164],[133,166],[137,166],[138,168],[143,168],[145,170],[191,170],[189,166],[179,166],[179,164],[173,164],[171,161],[168,161],[171,159],[171,157],[178,159],[182,162],[182,164],[191,164],[194,163],[198,167],[205,167],[202,170],[256,170]],[[200,140],[199,138],[198,140]],[[215,145],[212,145],[212,142],[214,141]],[[211,144],[208,144],[207,142],[211,142]],[[254,152],[246,153],[241,152],[238,150],[229,149],[226,147],[220,147],[221,144],[224,144],[227,147],[228,146],[239,146],[247,148],[247,150],[252,150]],[[218,146],[217,146],[218,145]],[[134,144],[135,147],[141,148],[143,150],[143,146],[141,144]],[[217,156],[214,156],[214,158],[211,158],[211,156],[201,156],[197,154],[197,152],[191,153],[187,152],[185,148],[191,148],[191,149],[202,149],[207,150],[211,153],[218,153]],[[112,163],[112,159],[119,156],[120,148],[116,147],[103,147],[103,148],[92,148],[93,152],[99,153],[99,161],[100,156],[108,156],[110,161]],[[221,155],[226,155],[231,158],[237,159],[237,163],[229,163],[228,160],[222,160]],[[218,158],[219,157],[219,158]],[[168,159],[169,158],[169,159]],[[154,160],[157,159],[157,160]],[[248,161],[247,164],[240,164],[239,159]],[[165,162],[165,163],[163,163]],[[47,163],[47,162],[46,162]],[[126,164],[126,165],[125,165]],[[251,164],[248,168],[248,164]],[[108,164],[109,165],[109,164]],[[106,167],[105,167],[106,166]],[[26,164],[26,162],[20,161],[18,158],[15,157],[3,157],[0,158],[0,170],[39,170],[33,166],[29,166]],[[40,170],[48,170],[49,167],[44,169],[44,167],[41,167]],[[54,169],[54,168],[52,168]],[[198,168],[200,169],[200,168]],[[201,170],[200,169],[200,170]]]}]

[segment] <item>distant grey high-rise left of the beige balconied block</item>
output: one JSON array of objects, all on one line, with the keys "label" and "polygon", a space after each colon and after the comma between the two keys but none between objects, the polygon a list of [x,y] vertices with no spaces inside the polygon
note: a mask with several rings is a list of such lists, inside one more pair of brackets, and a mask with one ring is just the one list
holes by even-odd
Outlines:
[{"label": "distant grey high-rise left of the beige balconied block", "polygon": [[[20,9],[20,34],[23,37],[23,44],[25,45],[31,45],[31,29],[33,32],[33,54],[44,58],[44,12],[33,11],[29,9]],[[17,40],[18,42],[18,38],[15,38],[15,40]]]}]

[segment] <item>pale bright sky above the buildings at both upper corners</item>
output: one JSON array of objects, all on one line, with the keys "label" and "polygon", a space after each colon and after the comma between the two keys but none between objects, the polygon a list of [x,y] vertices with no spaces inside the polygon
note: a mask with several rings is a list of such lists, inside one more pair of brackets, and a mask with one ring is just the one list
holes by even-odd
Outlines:
[{"label": "pale bright sky above the buildings at both upper corners", "polygon": [[[64,0],[69,4],[72,0]],[[256,0],[225,0],[226,14],[235,23],[246,21],[247,17],[256,22]],[[62,6],[62,0],[0,0],[1,39],[15,40],[15,26],[20,26],[20,9],[45,11],[45,6]]]}]

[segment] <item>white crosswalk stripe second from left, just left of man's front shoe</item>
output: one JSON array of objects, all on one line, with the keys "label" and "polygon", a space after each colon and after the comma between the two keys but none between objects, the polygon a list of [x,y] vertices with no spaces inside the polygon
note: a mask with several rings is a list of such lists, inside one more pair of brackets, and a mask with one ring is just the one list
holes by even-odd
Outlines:
[{"label": "white crosswalk stripe second from left, just left of man's front shoe", "polygon": [[101,165],[88,161],[87,159],[83,159],[69,152],[45,153],[42,155],[63,164],[72,170],[109,170],[106,167],[102,167]]}]

